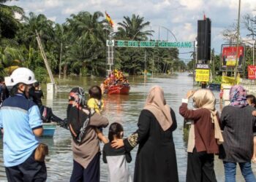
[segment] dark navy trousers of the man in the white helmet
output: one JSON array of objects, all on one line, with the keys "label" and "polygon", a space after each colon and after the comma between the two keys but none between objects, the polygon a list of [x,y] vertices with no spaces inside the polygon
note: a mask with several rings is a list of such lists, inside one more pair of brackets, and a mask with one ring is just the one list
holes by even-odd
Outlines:
[{"label": "dark navy trousers of the man in the white helmet", "polygon": [[34,152],[22,164],[5,167],[5,173],[9,182],[41,182],[46,181],[47,178],[45,162],[35,161]]}]

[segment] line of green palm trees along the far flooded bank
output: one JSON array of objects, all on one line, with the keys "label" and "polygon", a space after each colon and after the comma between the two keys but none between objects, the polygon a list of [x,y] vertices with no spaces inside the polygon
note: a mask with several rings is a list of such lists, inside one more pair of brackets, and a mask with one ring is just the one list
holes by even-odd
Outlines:
[{"label": "line of green palm trees along the far flooded bank", "polygon": [[[113,29],[102,12],[78,12],[62,23],[55,23],[45,15],[30,12],[25,15],[17,6],[7,6],[12,0],[0,0],[0,76],[10,74],[18,66],[31,68],[41,81],[47,77],[37,45],[36,31],[48,58],[53,74],[106,74],[106,40]],[[20,19],[15,18],[20,15]],[[146,31],[150,22],[140,15],[124,16],[117,23],[113,39],[146,41],[153,31]],[[128,74],[142,74],[145,67],[154,73],[185,69],[178,60],[178,49],[116,47],[114,68]],[[60,64],[61,60],[61,65]]]}]

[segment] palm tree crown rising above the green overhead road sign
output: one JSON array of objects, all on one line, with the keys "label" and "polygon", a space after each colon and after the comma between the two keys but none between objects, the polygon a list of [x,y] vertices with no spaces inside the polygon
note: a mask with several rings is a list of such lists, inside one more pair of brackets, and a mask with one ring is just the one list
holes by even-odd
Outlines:
[{"label": "palm tree crown rising above the green overhead road sign", "polygon": [[143,41],[148,39],[147,36],[152,36],[151,33],[154,31],[143,31],[146,26],[150,23],[147,21],[143,22],[144,17],[140,17],[140,15],[132,15],[132,18],[124,16],[124,20],[122,23],[118,23],[120,27],[118,27],[118,32],[116,36],[126,37],[127,39]]}]

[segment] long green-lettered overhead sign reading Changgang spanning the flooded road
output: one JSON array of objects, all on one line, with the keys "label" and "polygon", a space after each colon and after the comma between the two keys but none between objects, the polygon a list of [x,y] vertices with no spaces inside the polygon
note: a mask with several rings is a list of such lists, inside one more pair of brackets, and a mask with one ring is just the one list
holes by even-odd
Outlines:
[{"label": "long green-lettered overhead sign reading Changgang spanning the flooded road", "polygon": [[[109,42],[110,40],[107,40]],[[114,41],[114,40],[111,40]],[[113,42],[115,47],[162,47],[162,48],[191,48],[192,41],[124,41],[115,40]],[[108,45],[108,43],[107,43]],[[109,46],[109,45],[108,45]]]}]

